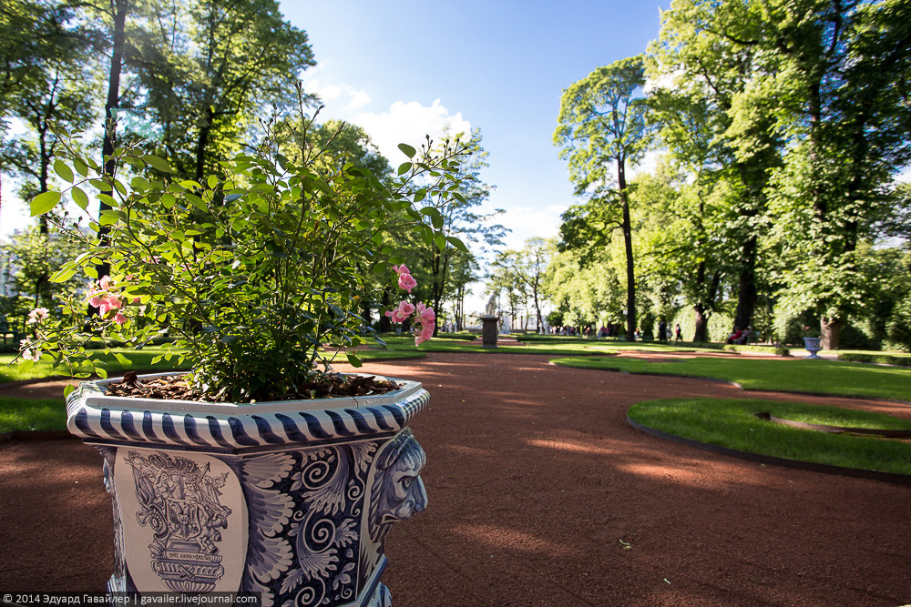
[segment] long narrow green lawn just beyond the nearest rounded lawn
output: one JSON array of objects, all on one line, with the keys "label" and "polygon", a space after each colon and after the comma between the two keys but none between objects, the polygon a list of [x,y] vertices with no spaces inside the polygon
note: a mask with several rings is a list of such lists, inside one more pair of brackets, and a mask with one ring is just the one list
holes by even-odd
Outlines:
[{"label": "long narrow green lawn just beyond the nearest rounded lawn", "polygon": [[630,373],[735,381],[743,389],[860,396],[911,401],[911,369],[806,359],[680,359],[645,362],[616,357],[553,359],[558,365]]}]

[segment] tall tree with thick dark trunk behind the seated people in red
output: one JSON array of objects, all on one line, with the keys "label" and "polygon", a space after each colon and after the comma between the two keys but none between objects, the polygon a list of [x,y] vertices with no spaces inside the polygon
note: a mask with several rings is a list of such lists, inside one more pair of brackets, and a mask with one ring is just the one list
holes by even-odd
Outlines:
[{"label": "tall tree with thick dark trunk behind the seated people in red", "polygon": [[763,6],[675,0],[661,18],[649,70],[661,140],[703,196],[726,182],[726,204],[714,209],[727,216],[716,248],[737,276],[734,325],[746,327],[758,297],[766,188],[782,147],[772,127],[775,100],[752,89],[754,75],[767,67],[755,44],[768,35]]}]

